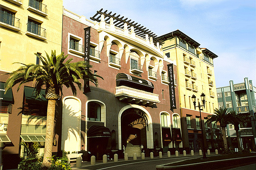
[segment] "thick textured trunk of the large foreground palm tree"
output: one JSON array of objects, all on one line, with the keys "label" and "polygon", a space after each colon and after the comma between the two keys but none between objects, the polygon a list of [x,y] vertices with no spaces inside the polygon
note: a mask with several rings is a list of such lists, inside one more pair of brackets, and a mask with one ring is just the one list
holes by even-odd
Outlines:
[{"label": "thick textured trunk of the large foreground palm tree", "polygon": [[52,157],[55,105],[56,105],[56,100],[48,100],[45,153],[44,153],[44,159],[43,159],[43,163],[42,163],[41,167],[50,167],[51,166],[50,161],[51,161],[51,157]]}]

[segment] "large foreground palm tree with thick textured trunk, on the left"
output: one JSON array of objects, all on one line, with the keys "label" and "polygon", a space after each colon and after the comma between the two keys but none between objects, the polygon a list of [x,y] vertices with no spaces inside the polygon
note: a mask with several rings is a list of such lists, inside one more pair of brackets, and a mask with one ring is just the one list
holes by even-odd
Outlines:
[{"label": "large foreground palm tree with thick textured trunk, on the left", "polygon": [[52,142],[55,120],[55,105],[56,100],[59,100],[59,92],[62,93],[62,86],[71,88],[73,95],[76,96],[77,90],[75,84],[79,90],[82,89],[82,83],[79,79],[87,79],[98,85],[96,77],[101,78],[99,75],[92,74],[90,68],[85,61],[79,61],[71,63],[73,58],[64,63],[64,60],[68,55],[64,56],[64,52],[56,56],[55,51],[51,51],[51,56],[46,53],[46,57],[42,57],[36,54],[41,61],[41,65],[35,64],[22,64],[18,70],[15,70],[9,74],[9,78],[5,83],[5,92],[19,84],[19,88],[27,83],[33,82],[35,85],[35,95],[40,94],[41,88],[46,87],[46,99],[48,100],[47,107],[47,121],[46,121],[46,142],[45,153],[43,158],[42,167],[50,167],[50,159],[52,157]]}]

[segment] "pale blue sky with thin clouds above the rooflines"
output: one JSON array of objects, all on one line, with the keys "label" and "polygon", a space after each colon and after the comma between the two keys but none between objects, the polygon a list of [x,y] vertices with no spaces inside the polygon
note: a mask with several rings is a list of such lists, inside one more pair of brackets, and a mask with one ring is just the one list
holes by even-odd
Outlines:
[{"label": "pale blue sky with thin clouds above the rooflines", "polygon": [[138,22],[156,35],[180,30],[214,59],[216,87],[244,82],[256,87],[255,0],[63,0],[66,9],[90,19],[97,10]]}]

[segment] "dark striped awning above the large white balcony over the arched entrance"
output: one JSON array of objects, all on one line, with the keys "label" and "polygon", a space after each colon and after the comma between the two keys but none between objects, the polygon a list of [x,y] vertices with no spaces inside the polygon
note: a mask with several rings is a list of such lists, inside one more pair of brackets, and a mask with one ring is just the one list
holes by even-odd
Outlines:
[{"label": "dark striped awning above the large white balcony over the arched entrance", "polygon": [[151,93],[154,90],[154,85],[150,81],[125,73],[119,73],[116,75],[116,86],[127,86]]}]

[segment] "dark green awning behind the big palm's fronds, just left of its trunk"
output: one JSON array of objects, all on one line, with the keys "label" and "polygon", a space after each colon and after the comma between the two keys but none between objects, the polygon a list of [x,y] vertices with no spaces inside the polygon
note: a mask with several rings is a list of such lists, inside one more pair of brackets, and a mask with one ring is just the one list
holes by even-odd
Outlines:
[{"label": "dark green awning behind the big palm's fronds, just left of its trunk", "polygon": [[35,96],[35,92],[34,92],[35,88],[33,87],[24,87],[24,94],[25,94],[25,98],[26,100],[30,100],[30,102],[47,102],[48,100],[45,98],[45,94],[46,94],[46,90],[41,89],[40,92],[40,96],[38,98],[36,98]]}]

